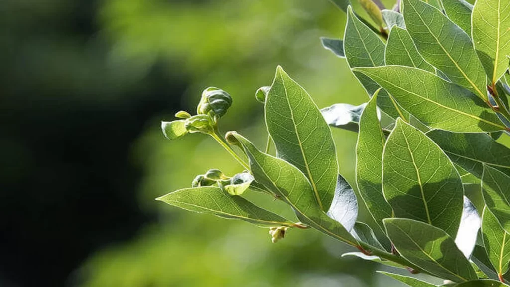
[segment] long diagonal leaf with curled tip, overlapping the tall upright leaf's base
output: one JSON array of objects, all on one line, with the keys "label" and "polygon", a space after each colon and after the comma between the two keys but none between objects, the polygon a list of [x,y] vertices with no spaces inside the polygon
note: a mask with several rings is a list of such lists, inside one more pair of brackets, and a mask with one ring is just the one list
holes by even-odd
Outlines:
[{"label": "long diagonal leaf with curled tip, overlapping the tall upright leaf's base", "polygon": [[310,182],[294,165],[262,153],[236,132],[228,132],[227,140],[243,149],[255,180],[287,202],[302,223],[336,240],[357,245],[354,237],[342,224],[329,218],[319,208]]}]

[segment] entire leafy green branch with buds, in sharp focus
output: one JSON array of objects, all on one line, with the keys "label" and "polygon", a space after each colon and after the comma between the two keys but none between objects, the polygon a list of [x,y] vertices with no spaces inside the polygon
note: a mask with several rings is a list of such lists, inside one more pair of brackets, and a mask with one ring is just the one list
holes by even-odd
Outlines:
[{"label": "entire leafy green branch with buds, in sharp focus", "polygon": [[[235,131],[219,134],[232,98],[207,88],[197,115],[178,112],[181,119],[163,122],[163,132],[169,139],[208,134],[244,171],[230,177],[211,170],[158,200],[268,227],[273,242],[290,229],[313,228],[359,250],[344,256],[447,285],[507,286],[510,149],[496,139],[510,135],[510,0],[402,0],[393,10],[360,0],[375,27],[347,0],[332,2],[347,13],[346,30],[322,44],[345,58],[368,101],[319,109],[278,66],[271,86],[256,92],[268,131],[262,151]],[[360,198],[338,173],[331,127],[358,133]],[[251,203],[247,192],[285,202],[300,222]],[[359,202],[372,221],[358,221]]]}]

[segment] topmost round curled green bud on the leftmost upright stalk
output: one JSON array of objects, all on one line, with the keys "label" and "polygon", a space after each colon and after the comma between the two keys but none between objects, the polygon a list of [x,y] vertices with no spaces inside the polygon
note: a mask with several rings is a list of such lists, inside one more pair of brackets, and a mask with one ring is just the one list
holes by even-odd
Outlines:
[{"label": "topmost round curled green bud on the leftmost upright stalk", "polygon": [[200,103],[196,107],[197,114],[208,114],[214,121],[223,116],[232,105],[232,98],[226,91],[209,87],[202,92]]}]

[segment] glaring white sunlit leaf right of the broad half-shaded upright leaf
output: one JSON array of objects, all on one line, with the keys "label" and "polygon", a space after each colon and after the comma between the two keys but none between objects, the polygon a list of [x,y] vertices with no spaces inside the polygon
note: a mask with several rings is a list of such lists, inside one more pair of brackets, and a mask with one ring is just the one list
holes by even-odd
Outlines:
[{"label": "glaring white sunlit leaf right of the broad half-shaded upright leaf", "polygon": [[475,206],[467,197],[464,197],[461,225],[458,226],[455,244],[468,259],[471,257],[471,252],[473,252],[473,248],[475,247],[476,236],[478,235],[480,225],[480,216]]}]

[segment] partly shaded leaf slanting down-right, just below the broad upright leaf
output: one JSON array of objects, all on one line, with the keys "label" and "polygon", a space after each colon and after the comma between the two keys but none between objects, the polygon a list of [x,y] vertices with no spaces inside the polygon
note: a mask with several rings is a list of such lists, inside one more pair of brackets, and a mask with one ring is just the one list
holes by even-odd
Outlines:
[{"label": "partly shaded leaf slanting down-right, just below the broad upright leaf", "polygon": [[477,279],[468,259],[443,230],[411,219],[389,218],[384,223],[397,251],[413,264],[454,282]]}]

